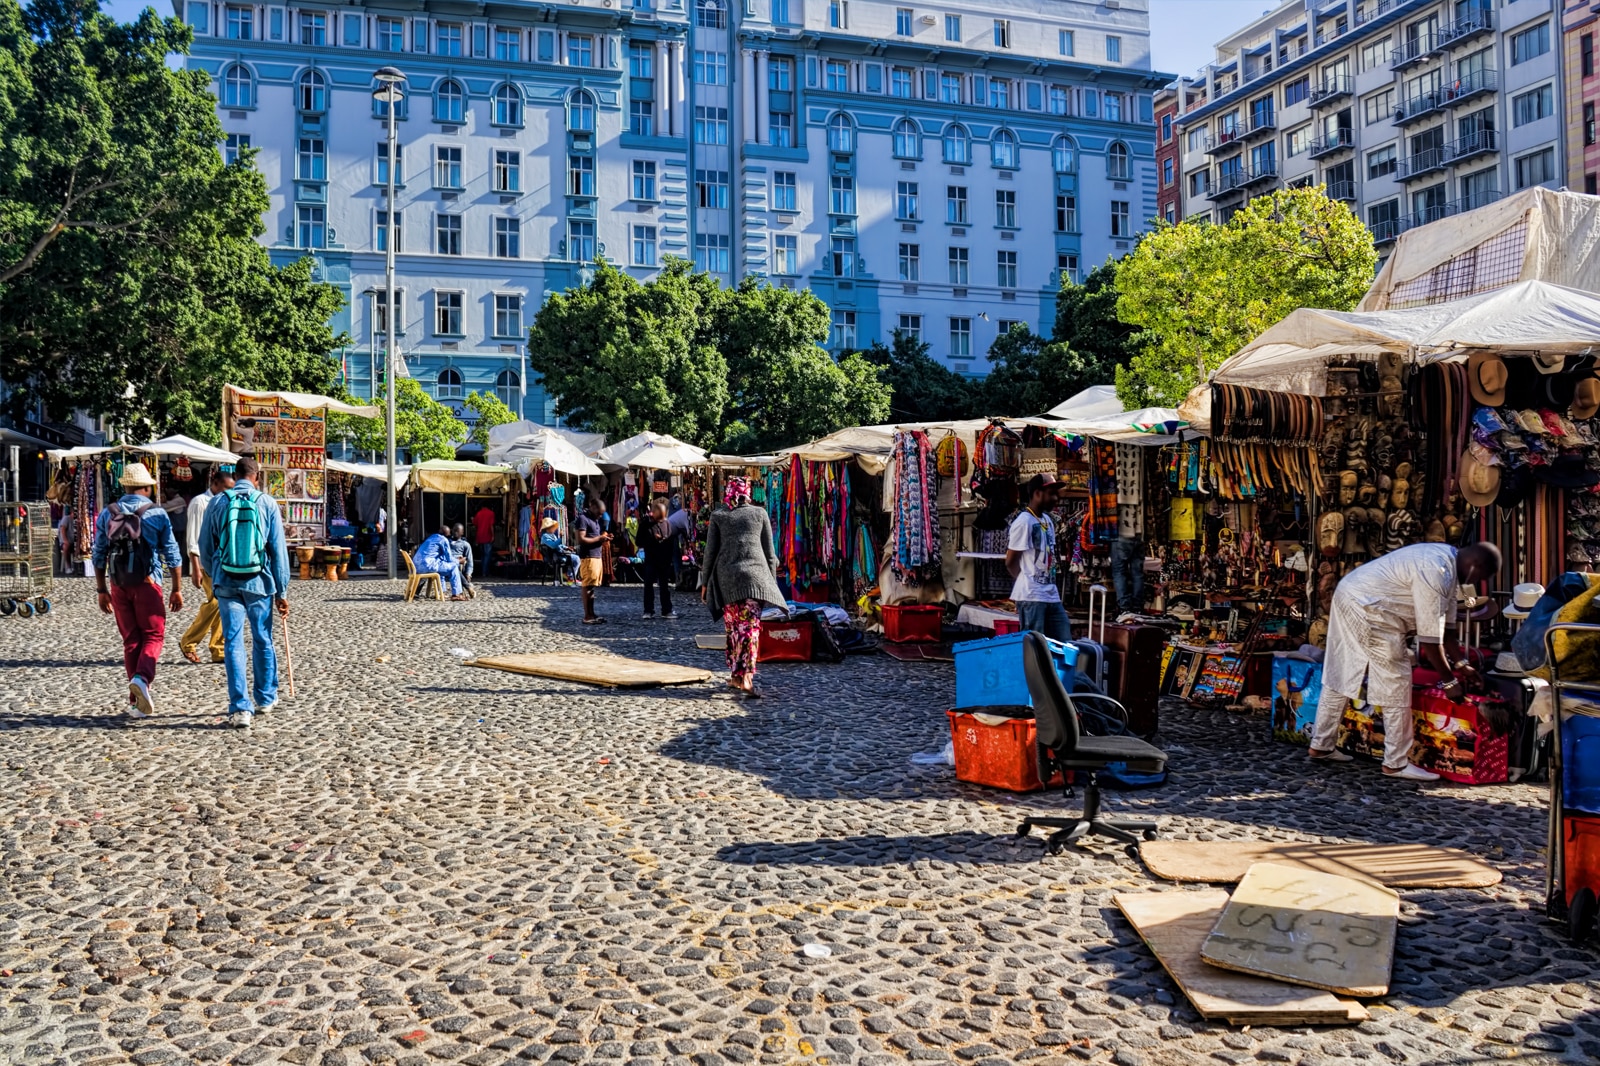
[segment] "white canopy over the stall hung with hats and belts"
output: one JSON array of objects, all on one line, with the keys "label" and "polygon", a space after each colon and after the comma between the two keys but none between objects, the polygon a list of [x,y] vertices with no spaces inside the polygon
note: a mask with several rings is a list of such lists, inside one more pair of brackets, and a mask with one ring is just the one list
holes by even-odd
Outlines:
[{"label": "white canopy over the stall hung with hats and belts", "polygon": [[1403,311],[1301,307],[1238,349],[1211,373],[1218,384],[1325,395],[1328,360],[1392,352],[1410,363],[1600,347],[1600,295],[1549,282],[1517,282],[1490,293]]}]

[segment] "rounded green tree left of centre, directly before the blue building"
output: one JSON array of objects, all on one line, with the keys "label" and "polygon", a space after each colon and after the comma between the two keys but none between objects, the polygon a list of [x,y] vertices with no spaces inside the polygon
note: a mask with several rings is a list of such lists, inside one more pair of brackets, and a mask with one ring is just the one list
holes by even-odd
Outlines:
[{"label": "rounded green tree left of centre, directly before the blue building", "polygon": [[642,285],[610,262],[594,280],[546,301],[528,330],[528,365],[573,424],[613,439],[651,429],[715,443],[728,365],[701,331],[715,291],[669,258]]}]

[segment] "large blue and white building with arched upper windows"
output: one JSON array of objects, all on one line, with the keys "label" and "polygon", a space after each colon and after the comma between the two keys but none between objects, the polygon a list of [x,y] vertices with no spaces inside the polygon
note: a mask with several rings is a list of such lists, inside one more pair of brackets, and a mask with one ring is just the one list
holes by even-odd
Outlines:
[{"label": "large blue and white building with arched upper windows", "polygon": [[[810,288],[830,347],[920,333],[981,373],[1062,271],[1155,214],[1147,0],[174,0],[226,152],[272,194],[264,240],[350,307],[350,387],[382,362],[384,248],[410,373],[515,410],[525,327],[597,256]],[[405,75],[400,189],[386,104]]]}]

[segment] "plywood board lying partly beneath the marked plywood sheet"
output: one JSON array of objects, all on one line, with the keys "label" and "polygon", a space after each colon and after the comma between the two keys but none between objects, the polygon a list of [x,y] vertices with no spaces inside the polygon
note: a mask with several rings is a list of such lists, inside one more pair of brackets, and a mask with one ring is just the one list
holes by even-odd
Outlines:
[{"label": "plywood board lying partly beneath the marked plywood sheet", "polygon": [[1123,892],[1117,908],[1202,1018],[1237,1026],[1315,1026],[1366,1020],[1330,992],[1232,973],[1200,960],[1200,944],[1227,906],[1226,892]]}]

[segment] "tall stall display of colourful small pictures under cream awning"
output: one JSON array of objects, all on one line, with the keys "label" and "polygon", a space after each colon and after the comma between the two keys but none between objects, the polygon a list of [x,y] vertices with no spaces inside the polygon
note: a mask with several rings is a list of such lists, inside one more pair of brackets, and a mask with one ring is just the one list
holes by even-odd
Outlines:
[{"label": "tall stall display of colourful small pictures under cream awning", "polygon": [[328,413],[378,418],[309,392],[254,392],[222,386],[222,440],[261,464],[261,491],[278,501],[290,544],[328,539]]}]

